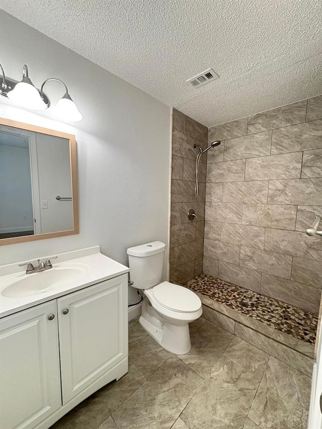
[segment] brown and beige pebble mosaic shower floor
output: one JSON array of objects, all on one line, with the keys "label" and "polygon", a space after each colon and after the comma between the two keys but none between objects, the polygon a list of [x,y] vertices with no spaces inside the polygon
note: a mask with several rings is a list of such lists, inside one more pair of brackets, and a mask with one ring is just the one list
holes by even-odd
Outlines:
[{"label": "brown and beige pebble mosaic shower floor", "polygon": [[186,287],[295,338],[314,344],[318,316],[224,280],[201,274]]}]

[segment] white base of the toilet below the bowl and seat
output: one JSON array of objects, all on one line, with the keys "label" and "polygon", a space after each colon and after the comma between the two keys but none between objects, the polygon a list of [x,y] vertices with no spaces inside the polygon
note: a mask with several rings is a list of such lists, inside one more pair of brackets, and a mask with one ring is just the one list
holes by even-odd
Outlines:
[{"label": "white base of the toilet below the bowl and seat", "polygon": [[164,349],[175,355],[185,355],[191,349],[189,323],[175,325],[170,323],[155,311],[145,298],[142,303],[140,325]]}]

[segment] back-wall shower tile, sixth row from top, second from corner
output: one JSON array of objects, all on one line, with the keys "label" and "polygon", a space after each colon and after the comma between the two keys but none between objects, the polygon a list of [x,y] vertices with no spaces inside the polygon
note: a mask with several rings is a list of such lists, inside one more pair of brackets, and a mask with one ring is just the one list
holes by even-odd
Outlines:
[{"label": "back-wall shower tile, sixth row from top, second from corner", "polygon": [[220,240],[226,243],[264,249],[265,228],[259,226],[221,224]]}]

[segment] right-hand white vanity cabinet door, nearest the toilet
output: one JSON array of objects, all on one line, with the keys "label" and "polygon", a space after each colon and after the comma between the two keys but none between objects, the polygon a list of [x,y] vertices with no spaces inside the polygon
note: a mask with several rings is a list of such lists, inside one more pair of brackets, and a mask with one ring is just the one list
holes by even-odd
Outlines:
[{"label": "right-hand white vanity cabinet door, nearest the toilet", "polygon": [[57,299],[62,401],[128,354],[127,275]]}]

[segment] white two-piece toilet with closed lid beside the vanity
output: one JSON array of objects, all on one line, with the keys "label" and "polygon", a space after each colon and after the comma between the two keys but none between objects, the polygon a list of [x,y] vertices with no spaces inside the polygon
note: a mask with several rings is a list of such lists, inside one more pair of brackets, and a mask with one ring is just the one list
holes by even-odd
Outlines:
[{"label": "white two-piece toilet with closed lid beside the vanity", "polygon": [[160,283],[165,250],[161,241],[128,248],[130,277],[144,292],[140,324],[164,349],[183,355],[191,349],[189,323],[201,316],[201,301],[189,289]]}]

